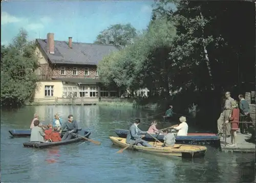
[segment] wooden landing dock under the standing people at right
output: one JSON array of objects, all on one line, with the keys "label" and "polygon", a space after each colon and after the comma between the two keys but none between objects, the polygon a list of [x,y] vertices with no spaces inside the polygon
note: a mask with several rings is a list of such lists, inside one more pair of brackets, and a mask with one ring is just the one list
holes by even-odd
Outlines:
[{"label": "wooden landing dock under the standing people at right", "polygon": [[[220,138],[221,143],[221,150],[225,152],[253,152],[255,153],[255,142],[248,143],[245,140],[250,139],[251,134],[238,134],[237,146],[231,147],[226,145],[225,146],[225,139],[223,136]],[[227,144],[230,143],[230,138],[226,138]]]}]

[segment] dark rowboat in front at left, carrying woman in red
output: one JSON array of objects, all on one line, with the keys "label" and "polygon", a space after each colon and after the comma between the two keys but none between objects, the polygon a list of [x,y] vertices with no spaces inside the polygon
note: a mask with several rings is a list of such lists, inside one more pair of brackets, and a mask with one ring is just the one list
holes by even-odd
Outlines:
[{"label": "dark rowboat in front at left, carrying woman in red", "polygon": [[[84,137],[89,138],[91,132],[89,131]],[[76,143],[79,141],[84,140],[80,136],[77,136],[75,139],[71,139],[68,141],[59,141],[59,142],[47,142],[47,143],[41,143],[41,142],[25,142],[23,143],[24,147],[33,147],[33,148],[47,148],[47,147],[52,147],[52,146],[60,146],[60,145],[68,145],[72,143]]]}]

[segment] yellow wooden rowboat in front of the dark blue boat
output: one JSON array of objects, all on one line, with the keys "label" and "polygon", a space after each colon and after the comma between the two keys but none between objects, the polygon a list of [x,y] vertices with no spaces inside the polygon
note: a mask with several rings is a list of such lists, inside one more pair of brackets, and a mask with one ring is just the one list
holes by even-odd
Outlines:
[{"label": "yellow wooden rowboat in front of the dark blue boat", "polygon": [[[116,136],[110,136],[110,140],[114,145],[120,146],[125,148],[130,144],[126,144],[126,139],[119,138]],[[156,147],[154,146],[154,142],[149,142],[152,147],[144,147],[144,146],[130,146],[128,149],[144,151],[148,153],[154,153],[157,155],[164,155],[164,156],[178,156],[178,157],[187,157],[187,158],[194,158],[194,157],[202,157],[205,155],[207,148],[204,146],[193,146],[193,145],[182,145],[182,144],[175,144],[173,147],[162,147],[163,143],[156,143]]]}]

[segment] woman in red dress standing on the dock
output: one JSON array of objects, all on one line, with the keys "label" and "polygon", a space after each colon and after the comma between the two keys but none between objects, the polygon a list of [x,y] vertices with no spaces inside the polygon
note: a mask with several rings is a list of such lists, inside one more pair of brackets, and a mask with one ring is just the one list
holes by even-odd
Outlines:
[{"label": "woman in red dress standing on the dock", "polygon": [[231,130],[230,130],[230,141],[231,143],[228,144],[229,146],[236,146],[237,145],[237,130],[239,128],[239,108],[238,102],[236,100],[231,101],[231,112],[229,115],[229,120],[225,121],[225,123],[231,123]]}]

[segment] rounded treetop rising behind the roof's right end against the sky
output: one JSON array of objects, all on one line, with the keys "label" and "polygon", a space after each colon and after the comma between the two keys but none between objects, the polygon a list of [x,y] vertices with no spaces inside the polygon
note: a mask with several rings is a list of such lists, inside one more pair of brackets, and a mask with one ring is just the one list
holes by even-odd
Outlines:
[{"label": "rounded treetop rising behind the roof's right end against the sky", "polygon": [[136,36],[136,29],[131,24],[116,24],[101,31],[95,43],[113,44],[117,48],[123,49],[126,45],[133,43]]}]

